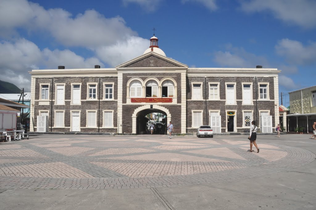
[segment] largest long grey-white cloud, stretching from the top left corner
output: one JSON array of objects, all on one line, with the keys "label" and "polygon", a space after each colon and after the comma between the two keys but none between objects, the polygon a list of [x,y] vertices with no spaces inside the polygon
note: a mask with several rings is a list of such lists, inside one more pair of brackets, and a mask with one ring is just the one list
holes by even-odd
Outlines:
[{"label": "largest long grey-white cloud, stretching from the top left corner", "polygon": [[[13,11],[7,11],[13,8]],[[25,12],[19,12],[25,11]],[[137,35],[125,25],[122,17],[106,18],[95,10],[87,10],[75,17],[63,9],[44,9],[26,0],[3,0],[0,3],[0,28],[15,31],[25,28],[30,32],[49,32],[65,46],[97,47],[112,45]]]}]

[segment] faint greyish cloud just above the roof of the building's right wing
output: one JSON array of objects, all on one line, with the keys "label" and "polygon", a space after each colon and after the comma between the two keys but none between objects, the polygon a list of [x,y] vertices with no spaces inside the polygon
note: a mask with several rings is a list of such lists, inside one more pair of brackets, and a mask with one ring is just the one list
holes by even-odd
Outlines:
[{"label": "faint greyish cloud just above the roof of the building's right wing", "polygon": [[233,47],[227,44],[227,51],[214,53],[214,61],[224,67],[255,68],[256,65],[268,66],[263,56],[246,52],[242,47]]}]

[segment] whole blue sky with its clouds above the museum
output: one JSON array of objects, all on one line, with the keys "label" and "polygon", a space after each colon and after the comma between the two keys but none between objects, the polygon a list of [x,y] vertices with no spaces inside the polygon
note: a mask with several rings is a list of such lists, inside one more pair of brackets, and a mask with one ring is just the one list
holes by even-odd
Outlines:
[{"label": "whole blue sky with its clouds above the museum", "polygon": [[113,67],[143,54],[155,27],[167,57],[278,68],[287,94],[316,85],[314,11],[310,0],[0,0],[0,78],[29,90],[32,69]]}]

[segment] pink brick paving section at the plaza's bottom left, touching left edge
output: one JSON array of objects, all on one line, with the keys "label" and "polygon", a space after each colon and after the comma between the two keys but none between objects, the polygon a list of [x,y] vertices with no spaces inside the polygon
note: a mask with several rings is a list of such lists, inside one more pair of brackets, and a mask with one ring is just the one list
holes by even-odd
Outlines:
[{"label": "pink brick paving section at the plaza's bottom left, touching left edge", "polygon": [[62,162],[1,167],[0,176],[83,178],[93,177]]}]

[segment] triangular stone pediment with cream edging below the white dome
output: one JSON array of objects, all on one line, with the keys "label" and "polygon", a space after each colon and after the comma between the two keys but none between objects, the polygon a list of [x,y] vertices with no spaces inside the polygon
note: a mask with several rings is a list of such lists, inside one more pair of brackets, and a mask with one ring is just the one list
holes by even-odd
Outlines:
[{"label": "triangular stone pediment with cream edging below the white dome", "polygon": [[129,60],[115,68],[188,68],[176,60],[167,58],[155,52],[149,52]]}]

